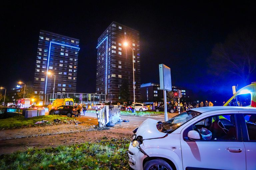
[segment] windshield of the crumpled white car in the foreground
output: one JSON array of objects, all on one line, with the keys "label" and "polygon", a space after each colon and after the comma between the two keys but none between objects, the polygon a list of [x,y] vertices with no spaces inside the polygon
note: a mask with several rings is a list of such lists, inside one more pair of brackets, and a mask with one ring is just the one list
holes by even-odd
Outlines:
[{"label": "windshield of the crumpled white car in the foreground", "polygon": [[166,122],[161,122],[157,124],[157,129],[163,133],[172,133],[174,130],[178,129],[181,125],[188,122],[189,120],[197,117],[201,113],[189,110],[178,114],[177,116],[171,118]]}]

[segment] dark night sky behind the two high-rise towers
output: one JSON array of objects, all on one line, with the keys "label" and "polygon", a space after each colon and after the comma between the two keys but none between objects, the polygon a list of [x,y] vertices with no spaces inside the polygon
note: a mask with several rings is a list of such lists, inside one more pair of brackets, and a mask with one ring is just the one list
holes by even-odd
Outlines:
[{"label": "dark night sky behind the two high-rise towers", "polygon": [[19,80],[33,83],[42,29],[80,39],[77,92],[95,92],[97,39],[116,21],[140,31],[141,83],[159,83],[158,64],[163,63],[171,68],[174,85],[194,93],[218,90],[225,93],[223,98],[229,98],[231,86],[241,82],[227,79],[213,83],[206,59],[214,45],[224,42],[228,34],[254,26],[256,3],[193,2],[145,5],[128,1],[38,1],[2,5],[0,86],[12,88]]}]

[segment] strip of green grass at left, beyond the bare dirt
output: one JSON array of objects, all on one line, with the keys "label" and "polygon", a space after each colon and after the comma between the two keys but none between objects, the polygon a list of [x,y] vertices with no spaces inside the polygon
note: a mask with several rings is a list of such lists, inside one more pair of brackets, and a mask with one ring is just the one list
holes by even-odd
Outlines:
[{"label": "strip of green grass at left, beyond the bare dirt", "polygon": [[[59,115],[46,115],[46,116],[38,116],[38,117],[32,117],[32,118],[25,118],[24,116],[14,116],[7,119],[0,119],[0,129],[42,126],[44,124],[35,124],[35,122],[41,121],[41,120],[53,120],[57,118],[60,119],[61,121],[74,119],[69,117],[62,117]],[[50,122],[47,122],[45,124],[50,124]]]}]

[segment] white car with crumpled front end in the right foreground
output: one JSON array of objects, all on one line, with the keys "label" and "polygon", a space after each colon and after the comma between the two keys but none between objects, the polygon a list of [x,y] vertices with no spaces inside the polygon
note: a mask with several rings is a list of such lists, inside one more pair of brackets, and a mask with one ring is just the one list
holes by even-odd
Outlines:
[{"label": "white car with crumpled front end in the right foreground", "polygon": [[147,119],[133,133],[135,170],[256,169],[256,108],[195,108],[166,122]]}]

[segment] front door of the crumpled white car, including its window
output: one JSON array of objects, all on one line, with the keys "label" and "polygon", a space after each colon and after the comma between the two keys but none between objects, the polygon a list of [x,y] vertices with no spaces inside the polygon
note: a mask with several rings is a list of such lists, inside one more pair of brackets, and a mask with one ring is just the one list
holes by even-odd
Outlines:
[{"label": "front door of the crumpled white car, including its window", "polygon": [[[237,113],[225,112],[204,116],[181,131],[184,170],[246,168],[245,147],[240,124],[236,121]],[[205,132],[208,133],[200,134],[201,140],[193,141],[187,137],[190,130],[203,132],[206,129],[208,131]]]}]

